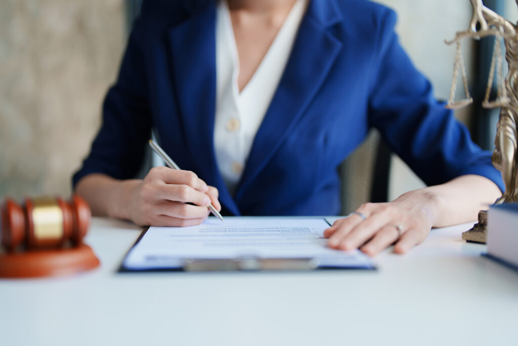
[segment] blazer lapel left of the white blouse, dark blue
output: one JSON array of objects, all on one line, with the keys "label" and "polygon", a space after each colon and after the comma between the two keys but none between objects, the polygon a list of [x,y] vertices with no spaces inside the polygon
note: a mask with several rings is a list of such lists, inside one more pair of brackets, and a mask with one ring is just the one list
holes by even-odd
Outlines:
[{"label": "blazer lapel left of the white blouse, dark blue", "polygon": [[192,15],[168,32],[172,78],[186,149],[193,158],[195,173],[217,187],[221,203],[229,212],[239,215],[214,153],[215,2],[188,10]]}]

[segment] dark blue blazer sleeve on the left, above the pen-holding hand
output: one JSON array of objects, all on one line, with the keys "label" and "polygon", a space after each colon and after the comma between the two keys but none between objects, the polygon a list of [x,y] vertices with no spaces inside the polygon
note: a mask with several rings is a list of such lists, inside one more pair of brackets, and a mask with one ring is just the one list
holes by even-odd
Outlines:
[{"label": "dark blue blazer sleeve on the left, above the pen-holding hand", "polygon": [[104,173],[117,179],[133,178],[142,164],[151,137],[151,112],[143,58],[142,17],[136,20],[116,83],[103,104],[103,121],[90,154],[73,177]]}]

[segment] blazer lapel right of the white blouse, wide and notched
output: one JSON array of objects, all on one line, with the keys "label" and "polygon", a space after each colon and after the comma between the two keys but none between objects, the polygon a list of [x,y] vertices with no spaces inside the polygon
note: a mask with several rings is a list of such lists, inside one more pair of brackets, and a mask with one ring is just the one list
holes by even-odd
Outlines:
[{"label": "blazer lapel right of the white blouse, wide and notched", "polygon": [[277,91],[255,135],[236,190],[237,201],[304,113],[338,56],[342,44],[327,30],[341,20],[335,1],[310,2]]}]

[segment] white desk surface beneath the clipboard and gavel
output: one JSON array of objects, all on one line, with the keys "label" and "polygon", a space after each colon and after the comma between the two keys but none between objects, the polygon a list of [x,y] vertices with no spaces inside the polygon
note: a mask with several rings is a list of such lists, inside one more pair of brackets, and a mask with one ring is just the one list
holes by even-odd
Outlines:
[{"label": "white desk surface beneath the clipboard and gavel", "polygon": [[518,272],[480,257],[467,228],[386,251],[378,271],[120,274],[140,229],[96,218],[99,269],[0,281],[0,344],[518,345]]}]

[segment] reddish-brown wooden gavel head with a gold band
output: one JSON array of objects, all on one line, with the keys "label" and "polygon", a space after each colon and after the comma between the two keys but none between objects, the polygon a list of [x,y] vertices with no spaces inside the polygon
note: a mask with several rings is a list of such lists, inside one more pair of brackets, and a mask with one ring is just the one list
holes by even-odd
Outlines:
[{"label": "reddish-brown wooden gavel head with a gold band", "polygon": [[90,207],[77,195],[25,199],[24,205],[6,199],[1,209],[1,243],[13,252],[22,243],[27,250],[79,245],[90,225]]}]

